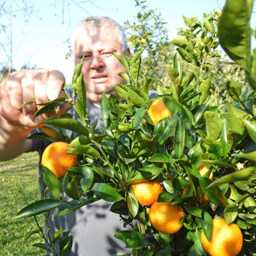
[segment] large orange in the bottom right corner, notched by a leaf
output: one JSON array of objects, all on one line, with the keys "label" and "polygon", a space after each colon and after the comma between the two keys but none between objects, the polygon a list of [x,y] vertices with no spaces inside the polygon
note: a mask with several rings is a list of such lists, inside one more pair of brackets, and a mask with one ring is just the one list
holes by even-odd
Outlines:
[{"label": "large orange in the bottom right corner, notched by a leaf", "polygon": [[243,235],[236,224],[227,224],[224,218],[215,218],[212,220],[210,241],[202,231],[201,243],[211,256],[236,256],[242,249]]}]

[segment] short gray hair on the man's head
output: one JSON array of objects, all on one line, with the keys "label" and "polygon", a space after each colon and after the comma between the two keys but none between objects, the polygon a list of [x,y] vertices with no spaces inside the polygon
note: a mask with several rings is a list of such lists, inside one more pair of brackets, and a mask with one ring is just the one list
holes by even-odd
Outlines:
[{"label": "short gray hair on the man's head", "polygon": [[70,38],[70,44],[72,52],[74,53],[76,38],[81,29],[88,29],[90,31],[99,31],[102,28],[113,29],[116,32],[117,39],[122,46],[122,52],[125,53],[128,49],[128,44],[126,42],[125,32],[122,26],[120,26],[115,20],[110,17],[105,16],[94,16],[87,17],[77,24]]}]

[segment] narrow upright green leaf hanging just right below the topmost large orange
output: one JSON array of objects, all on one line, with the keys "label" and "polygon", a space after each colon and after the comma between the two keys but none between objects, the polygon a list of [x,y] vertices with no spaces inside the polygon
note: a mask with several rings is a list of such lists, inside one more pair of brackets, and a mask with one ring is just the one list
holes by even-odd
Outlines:
[{"label": "narrow upright green leaf hanging just right below the topmost large orange", "polygon": [[179,117],[177,117],[177,125],[175,127],[175,134],[174,134],[174,151],[175,157],[179,159],[184,151],[185,146],[185,126]]}]

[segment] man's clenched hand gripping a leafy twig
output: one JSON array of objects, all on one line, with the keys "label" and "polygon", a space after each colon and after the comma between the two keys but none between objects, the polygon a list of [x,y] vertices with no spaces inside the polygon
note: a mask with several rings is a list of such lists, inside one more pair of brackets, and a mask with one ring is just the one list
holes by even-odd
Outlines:
[{"label": "man's clenched hand gripping a leafy twig", "polygon": [[[65,78],[58,70],[45,69],[21,70],[11,73],[0,84],[0,125],[6,129],[38,127],[41,122],[52,116],[60,116],[67,112],[71,105],[64,103],[52,113],[42,114],[31,119],[42,106],[42,102],[56,99],[65,94],[61,89],[65,85]],[[33,101],[35,103],[33,103]],[[24,105],[25,102],[32,102]],[[7,128],[8,127],[8,128]]]}]

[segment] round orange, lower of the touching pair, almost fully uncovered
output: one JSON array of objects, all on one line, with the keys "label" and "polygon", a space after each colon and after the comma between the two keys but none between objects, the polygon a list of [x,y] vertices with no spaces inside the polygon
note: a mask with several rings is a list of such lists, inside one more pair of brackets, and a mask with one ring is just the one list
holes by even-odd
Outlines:
[{"label": "round orange, lower of the touching pair, almost fully uncovered", "polygon": [[149,219],[153,227],[164,234],[174,234],[183,225],[184,214],[177,204],[171,202],[152,204],[149,210]]}]

